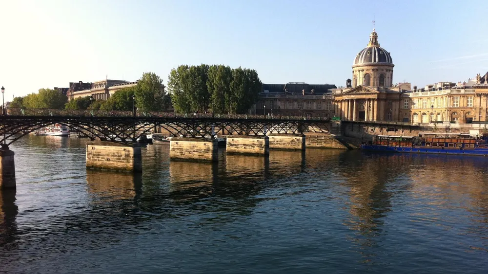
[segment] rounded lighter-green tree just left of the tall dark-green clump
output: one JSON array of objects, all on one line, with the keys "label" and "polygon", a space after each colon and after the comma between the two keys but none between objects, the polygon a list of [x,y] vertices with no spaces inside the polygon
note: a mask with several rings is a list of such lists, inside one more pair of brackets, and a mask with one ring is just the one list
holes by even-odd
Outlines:
[{"label": "rounded lighter-green tree just left of the tall dark-green clump", "polygon": [[138,110],[159,111],[164,109],[163,80],[156,73],[143,73],[137,82],[136,106]]}]

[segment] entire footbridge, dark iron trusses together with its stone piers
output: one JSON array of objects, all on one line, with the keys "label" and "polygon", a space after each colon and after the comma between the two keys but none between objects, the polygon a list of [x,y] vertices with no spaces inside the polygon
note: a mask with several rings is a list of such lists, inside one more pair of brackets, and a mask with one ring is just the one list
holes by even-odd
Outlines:
[{"label": "entire footbridge, dark iron trusses together with its stone piers", "polygon": [[[86,166],[142,171],[135,140],[156,128],[170,133],[170,158],[218,161],[217,136],[225,135],[227,153],[268,155],[269,148],[305,149],[304,133],[328,133],[320,117],[161,111],[9,108],[0,123],[0,188],[15,187],[14,152],[9,146],[41,128],[61,124],[102,145],[86,147]],[[110,144],[108,144],[110,143]]]}]

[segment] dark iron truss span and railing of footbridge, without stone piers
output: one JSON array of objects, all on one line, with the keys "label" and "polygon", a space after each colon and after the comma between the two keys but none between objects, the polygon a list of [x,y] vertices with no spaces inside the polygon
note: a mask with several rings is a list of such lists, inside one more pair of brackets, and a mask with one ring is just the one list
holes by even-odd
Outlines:
[{"label": "dark iron truss span and railing of footbridge, without stone piers", "polygon": [[9,108],[1,116],[2,148],[41,128],[60,124],[91,140],[129,143],[161,127],[173,136],[214,138],[215,135],[327,132],[327,118],[248,114],[176,113],[125,110]]}]

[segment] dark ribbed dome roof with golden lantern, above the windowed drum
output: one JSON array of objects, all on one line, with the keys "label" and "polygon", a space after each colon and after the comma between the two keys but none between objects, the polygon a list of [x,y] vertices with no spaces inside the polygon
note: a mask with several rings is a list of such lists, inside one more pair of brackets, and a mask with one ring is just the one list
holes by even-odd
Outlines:
[{"label": "dark ribbed dome roof with golden lantern, above the windowed drum", "polygon": [[385,63],[393,64],[390,53],[380,47],[378,43],[378,34],[373,30],[369,35],[369,43],[366,48],[356,55],[353,65],[362,65],[368,63]]}]

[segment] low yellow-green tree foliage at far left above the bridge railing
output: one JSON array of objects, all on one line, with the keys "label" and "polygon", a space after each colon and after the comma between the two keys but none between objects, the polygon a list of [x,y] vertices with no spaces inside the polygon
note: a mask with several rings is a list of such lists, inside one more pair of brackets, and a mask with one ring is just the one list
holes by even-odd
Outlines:
[{"label": "low yellow-green tree foliage at far left above the bridge railing", "polygon": [[22,100],[26,108],[44,109],[63,109],[67,101],[66,95],[52,89],[40,89],[39,93],[31,93]]}]

